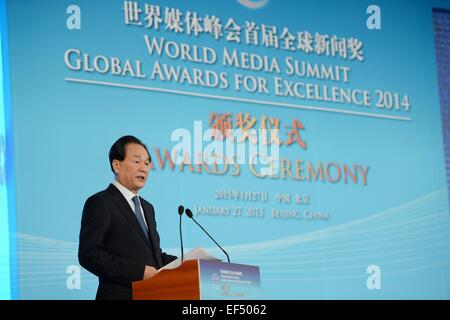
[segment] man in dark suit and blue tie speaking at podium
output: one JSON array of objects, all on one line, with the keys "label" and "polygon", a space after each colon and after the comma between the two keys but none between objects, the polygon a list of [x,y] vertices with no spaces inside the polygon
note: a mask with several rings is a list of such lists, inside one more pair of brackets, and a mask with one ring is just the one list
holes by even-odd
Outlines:
[{"label": "man in dark suit and blue tie speaking at podium", "polygon": [[136,137],[124,136],[109,151],[115,181],[86,200],[78,259],[99,277],[96,299],[131,299],[131,283],[154,276],[176,259],[163,253],[153,206],[138,191],[151,158]]}]

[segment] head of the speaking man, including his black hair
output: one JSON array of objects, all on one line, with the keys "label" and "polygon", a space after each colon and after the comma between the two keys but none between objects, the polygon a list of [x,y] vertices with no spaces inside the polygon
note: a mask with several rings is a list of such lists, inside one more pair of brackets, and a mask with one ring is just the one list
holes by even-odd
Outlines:
[{"label": "head of the speaking man, including his black hair", "polygon": [[134,193],[145,186],[150,162],[147,147],[134,136],[123,136],[109,150],[109,164],[116,180]]}]

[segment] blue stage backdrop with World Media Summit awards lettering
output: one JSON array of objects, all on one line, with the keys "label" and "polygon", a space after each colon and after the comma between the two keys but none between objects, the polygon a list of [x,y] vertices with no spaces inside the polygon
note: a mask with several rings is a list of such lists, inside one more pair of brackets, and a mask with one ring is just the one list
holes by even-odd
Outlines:
[{"label": "blue stage backdrop with World Media Summit awards lettering", "polygon": [[[81,212],[126,134],[166,252],[184,205],[262,298],[450,298],[433,8],[8,1],[18,298],[95,296]],[[183,219],[185,250],[225,258]]]}]

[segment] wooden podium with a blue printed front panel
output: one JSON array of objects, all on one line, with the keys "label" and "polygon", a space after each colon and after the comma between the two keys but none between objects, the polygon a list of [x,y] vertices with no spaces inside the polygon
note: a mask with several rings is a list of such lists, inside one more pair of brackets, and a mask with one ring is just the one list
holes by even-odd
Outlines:
[{"label": "wooden podium with a blue printed front panel", "polygon": [[257,299],[259,268],[216,260],[188,260],[135,281],[133,300]]}]

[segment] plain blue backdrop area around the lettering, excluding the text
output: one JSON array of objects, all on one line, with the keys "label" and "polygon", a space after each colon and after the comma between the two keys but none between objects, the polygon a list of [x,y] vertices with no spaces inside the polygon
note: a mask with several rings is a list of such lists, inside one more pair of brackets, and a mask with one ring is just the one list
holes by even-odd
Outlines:
[{"label": "plain blue backdrop area around the lettering, excluding the text", "polygon": [[[143,2],[141,2],[143,3]],[[149,68],[155,59],[146,52],[145,28],[126,26],[123,1],[78,1],[82,29],[65,27],[71,1],[8,2],[12,120],[16,192],[17,282],[21,299],[90,299],[96,278],[83,270],[81,290],[66,288],[66,268],[78,265],[77,246],[85,199],[113,179],[107,160],[111,144],[133,134],[154,148],[171,148],[176,128],[193,130],[195,120],[208,127],[210,112],[249,112],[279,117],[282,127],[297,118],[305,124],[308,149],[281,147],[281,157],[313,163],[370,165],[368,186],[258,179],[247,167],[239,177],[153,171],[144,198],[157,213],[163,248],[179,254],[177,206],[252,204],[214,200],[216,189],[267,191],[264,219],[200,216],[198,219],[229,251],[232,262],[258,265],[262,298],[267,299],[448,299],[450,298],[450,220],[440,126],[432,7],[449,8],[447,1],[379,1],[382,29],[366,28],[369,1],[270,1],[249,10],[237,1],[152,1],[164,7],[234,18],[243,25],[289,27],[291,31],[356,37],[364,42],[365,61],[290,54],[298,59],[350,66],[351,88],[408,93],[411,122],[372,119],[317,111],[225,102],[131,89],[81,85],[66,77],[172,88],[190,92],[265,99],[317,107],[354,106],[256,96],[234,90],[208,89],[69,70],[64,52],[77,48],[91,55],[139,59]],[[151,32],[177,42],[227,46],[245,52],[277,56],[282,50],[232,45]],[[161,59],[161,62],[168,60]],[[180,61],[174,65],[193,66]],[[199,66],[221,70],[220,66]],[[224,69],[230,74],[231,69]],[[236,73],[245,73],[235,71]],[[265,74],[262,74],[265,75]],[[319,80],[311,81],[317,83]],[[346,85],[338,84],[342,87]],[[259,124],[259,122],[258,122]],[[282,130],[281,137],[287,135]],[[156,161],[155,161],[156,162]],[[270,217],[279,205],[277,192],[309,194],[304,209],[331,214],[327,221],[284,221]],[[183,225],[186,247],[206,247],[221,256],[200,230]],[[382,271],[381,290],[368,290],[366,269]]]}]

